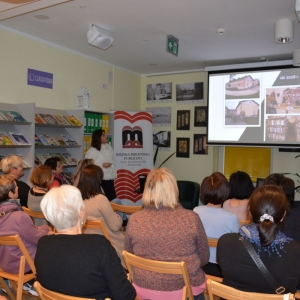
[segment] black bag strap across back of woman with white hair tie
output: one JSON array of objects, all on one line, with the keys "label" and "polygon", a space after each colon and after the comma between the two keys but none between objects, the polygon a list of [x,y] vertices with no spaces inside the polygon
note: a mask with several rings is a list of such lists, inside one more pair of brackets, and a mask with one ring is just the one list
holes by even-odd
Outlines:
[{"label": "black bag strap across back of woman with white hair tie", "polygon": [[246,239],[241,239],[243,245],[245,246],[246,250],[250,254],[251,258],[255,262],[256,266],[260,270],[260,272],[264,275],[264,277],[267,279],[267,281],[271,284],[271,286],[274,287],[275,293],[280,295],[285,292],[285,287],[279,285],[279,283],[275,280],[275,278],[271,275],[265,264],[262,262],[258,254],[256,253],[255,249],[251,245],[250,242],[248,242]]}]

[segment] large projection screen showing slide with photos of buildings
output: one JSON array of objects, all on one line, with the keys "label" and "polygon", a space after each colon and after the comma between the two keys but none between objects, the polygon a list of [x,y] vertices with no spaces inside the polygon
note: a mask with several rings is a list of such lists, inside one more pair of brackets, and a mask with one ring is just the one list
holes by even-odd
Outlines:
[{"label": "large projection screen showing slide with photos of buildings", "polygon": [[300,69],[209,72],[208,144],[300,144]]}]

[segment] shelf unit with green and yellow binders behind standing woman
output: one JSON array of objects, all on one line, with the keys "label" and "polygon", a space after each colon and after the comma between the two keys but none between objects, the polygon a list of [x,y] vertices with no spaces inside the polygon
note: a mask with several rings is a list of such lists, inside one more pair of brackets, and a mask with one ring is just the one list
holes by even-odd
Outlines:
[{"label": "shelf unit with green and yellow binders behind standing woman", "polygon": [[71,110],[70,114],[74,115],[84,125],[80,134],[83,141],[83,156],[91,146],[92,134],[96,129],[105,130],[108,135],[108,142],[113,147],[113,114],[84,109]]}]

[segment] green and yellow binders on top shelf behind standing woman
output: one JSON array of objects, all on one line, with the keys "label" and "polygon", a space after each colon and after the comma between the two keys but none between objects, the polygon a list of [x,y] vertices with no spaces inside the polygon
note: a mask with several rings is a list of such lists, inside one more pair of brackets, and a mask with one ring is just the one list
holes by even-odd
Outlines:
[{"label": "green and yellow binders on top shelf behind standing woman", "polygon": [[97,129],[102,129],[109,134],[109,116],[99,113],[84,113],[84,133],[93,133]]}]

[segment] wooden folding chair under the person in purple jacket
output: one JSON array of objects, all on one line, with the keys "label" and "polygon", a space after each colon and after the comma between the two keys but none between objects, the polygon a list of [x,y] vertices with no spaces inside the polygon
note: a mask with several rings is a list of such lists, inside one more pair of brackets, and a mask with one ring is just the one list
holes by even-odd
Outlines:
[{"label": "wooden folding chair under the person in purple jacket", "polygon": [[[19,265],[19,273],[9,273],[5,272],[0,269],[0,283],[1,286],[6,290],[7,294],[9,295],[10,299],[12,300],[21,300],[23,294],[23,284],[28,282],[31,279],[35,278],[36,270],[34,263],[24,246],[21,238],[19,235],[11,235],[11,236],[0,236],[0,245],[2,246],[15,246],[19,247],[20,251],[22,252],[22,256],[20,257],[20,265]],[[28,264],[32,273],[24,274],[25,272],[25,264]],[[1,268],[1,266],[0,266]],[[16,293],[16,297],[11,292],[10,288],[4,281],[4,278],[8,279]]]}]

